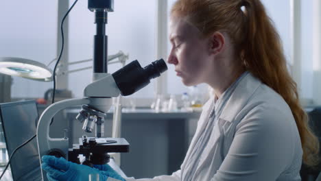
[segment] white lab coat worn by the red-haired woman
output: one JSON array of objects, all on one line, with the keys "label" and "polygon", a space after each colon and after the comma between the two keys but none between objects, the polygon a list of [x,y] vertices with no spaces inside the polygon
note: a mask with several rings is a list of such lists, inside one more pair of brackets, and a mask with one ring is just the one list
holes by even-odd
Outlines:
[{"label": "white lab coat worn by the red-haired woman", "polygon": [[[214,126],[206,128],[211,121],[209,114],[214,105],[216,111],[217,104],[219,100],[215,104],[214,99],[209,99],[204,105],[180,170],[171,176],[137,180],[301,180],[300,136],[292,112],[280,95],[247,73],[227,98]],[[210,138],[206,146],[200,149],[201,154],[192,155],[202,132],[209,129],[212,129]],[[191,162],[196,166],[192,177],[188,176]]]}]

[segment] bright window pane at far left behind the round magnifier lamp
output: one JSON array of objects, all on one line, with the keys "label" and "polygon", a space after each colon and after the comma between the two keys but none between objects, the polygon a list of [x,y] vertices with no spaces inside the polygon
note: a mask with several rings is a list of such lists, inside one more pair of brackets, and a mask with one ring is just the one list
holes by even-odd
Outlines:
[{"label": "bright window pane at far left behind the round magnifier lamp", "polygon": [[[56,57],[56,1],[2,1],[0,56],[48,64]],[[12,77],[12,97],[43,97],[49,82]]]}]

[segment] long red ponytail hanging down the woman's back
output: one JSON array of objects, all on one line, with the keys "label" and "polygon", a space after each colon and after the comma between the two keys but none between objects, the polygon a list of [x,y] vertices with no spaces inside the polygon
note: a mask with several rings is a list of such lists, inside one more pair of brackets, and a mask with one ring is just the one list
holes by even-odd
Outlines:
[{"label": "long red ponytail hanging down the woman's back", "polygon": [[246,39],[243,62],[255,77],[280,94],[292,110],[303,149],[303,161],[318,165],[318,138],[311,132],[306,112],[300,106],[296,82],[287,71],[281,38],[258,0],[243,0],[246,12]]}]

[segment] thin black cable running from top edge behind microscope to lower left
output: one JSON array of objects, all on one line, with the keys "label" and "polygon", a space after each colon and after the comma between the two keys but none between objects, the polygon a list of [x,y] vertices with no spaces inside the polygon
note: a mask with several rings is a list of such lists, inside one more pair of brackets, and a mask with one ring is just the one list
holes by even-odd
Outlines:
[{"label": "thin black cable running from top edge behind microscope to lower left", "polygon": [[[60,58],[62,56],[62,52],[64,50],[64,29],[62,28],[62,25],[64,24],[64,19],[66,19],[66,17],[68,16],[69,12],[71,11],[71,9],[73,9],[73,6],[75,6],[75,3],[77,3],[78,0],[75,0],[75,2],[73,2],[73,5],[71,5],[71,7],[69,8],[69,10],[67,11],[66,14],[64,14],[64,17],[62,18],[61,24],[60,24],[60,30],[61,30],[61,35],[62,35],[62,46],[61,46],[61,50],[60,50],[60,55],[59,58],[55,64],[55,68],[53,69],[53,93],[52,93],[52,101],[51,104],[53,104],[55,102],[55,91],[56,91],[56,69],[57,66],[60,62]],[[50,125],[52,123],[53,119],[51,119]],[[5,166],[5,169],[3,169],[2,174],[0,176],[0,180],[3,177],[5,171],[8,169],[10,162],[11,162],[11,158],[12,156],[14,156],[14,153],[16,153],[16,150],[20,149],[21,147],[23,147],[24,145],[26,145],[27,143],[29,143],[30,141],[32,141],[33,138],[35,138],[37,135],[35,134],[34,136],[32,136],[31,138],[29,138],[29,140],[27,140],[25,143],[23,143],[22,145],[20,145],[19,147],[16,147],[16,149],[14,149],[14,151],[12,152],[9,160],[8,160],[8,164]]]}]

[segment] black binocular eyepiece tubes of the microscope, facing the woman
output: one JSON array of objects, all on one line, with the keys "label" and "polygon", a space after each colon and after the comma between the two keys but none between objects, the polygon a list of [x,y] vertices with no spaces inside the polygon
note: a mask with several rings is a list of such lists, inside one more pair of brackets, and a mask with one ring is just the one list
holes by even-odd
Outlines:
[{"label": "black binocular eyepiece tubes of the microscope, facing the woman", "polygon": [[122,69],[112,73],[121,95],[132,95],[136,91],[150,84],[150,80],[160,76],[167,70],[163,59],[156,60],[145,68],[137,60],[130,62]]}]

